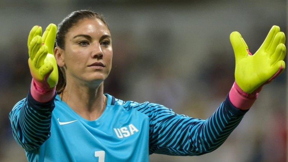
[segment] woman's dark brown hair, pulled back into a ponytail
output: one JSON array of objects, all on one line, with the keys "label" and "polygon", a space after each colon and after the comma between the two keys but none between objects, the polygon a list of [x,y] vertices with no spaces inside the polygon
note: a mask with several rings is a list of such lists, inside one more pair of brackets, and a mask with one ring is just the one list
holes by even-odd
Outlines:
[{"label": "woman's dark brown hair, pulled back into a ponytail", "polygon": [[[108,30],[108,24],[106,23],[104,17],[102,14],[98,14],[93,11],[89,10],[78,10],[71,12],[68,16],[66,16],[57,27],[57,34],[56,34],[56,41],[55,41],[55,47],[58,46],[61,49],[64,49],[65,46],[65,36],[68,33],[69,29],[73,27],[77,22],[84,18],[97,18],[100,19],[104,24],[106,24]],[[58,66],[58,65],[57,65]],[[57,94],[60,94],[63,92],[66,86],[66,73],[65,73],[65,67],[59,67],[58,66],[58,84],[56,86]]]}]

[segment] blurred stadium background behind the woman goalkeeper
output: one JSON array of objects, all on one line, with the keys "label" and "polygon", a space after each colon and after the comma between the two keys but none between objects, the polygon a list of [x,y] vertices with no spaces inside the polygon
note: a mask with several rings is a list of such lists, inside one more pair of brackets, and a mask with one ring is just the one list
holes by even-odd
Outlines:
[{"label": "blurred stadium background behind the woman goalkeeper", "polygon": [[[252,53],[272,25],[279,25],[286,37],[288,33],[285,0],[2,0],[0,161],[27,161],[12,137],[8,114],[29,90],[31,27],[38,24],[44,30],[79,9],[104,14],[111,29],[114,58],[105,93],[163,104],[178,114],[202,119],[224,101],[234,82],[230,33],[239,31]],[[287,161],[286,80],[287,72],[266,85],[239,126],[214,152],[187,157],[153,154],[150,161]]]}]

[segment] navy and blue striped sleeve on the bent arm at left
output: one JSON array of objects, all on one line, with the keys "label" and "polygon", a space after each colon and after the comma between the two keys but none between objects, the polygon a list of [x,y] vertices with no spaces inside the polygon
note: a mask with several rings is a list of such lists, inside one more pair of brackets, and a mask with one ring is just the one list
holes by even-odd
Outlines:
[{"label": "navy and blue striped sleeve on the bent arm at left", "polygon": [[25,151],[39,148],[50,137],[55,96],[51,101],[41,103],[33,99],[29,91],[9,113],[13,136]]}]

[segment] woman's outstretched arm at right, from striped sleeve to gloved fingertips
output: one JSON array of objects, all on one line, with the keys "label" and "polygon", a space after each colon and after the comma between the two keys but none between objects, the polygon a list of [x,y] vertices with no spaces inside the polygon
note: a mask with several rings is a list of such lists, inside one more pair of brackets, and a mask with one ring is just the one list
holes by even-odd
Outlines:
[{"label": "woman's outstretched arm at right, from striped sleeve to gloved fingertips", "polygon": [[175,114],[150,104],[149,153],[193,156],[218,148],[237,127],[258,93],[285,69],[285,35],[274,25],[254,55],[239,32],[230,41],[235,53],[235,82],[220,107],[207,120]]}]

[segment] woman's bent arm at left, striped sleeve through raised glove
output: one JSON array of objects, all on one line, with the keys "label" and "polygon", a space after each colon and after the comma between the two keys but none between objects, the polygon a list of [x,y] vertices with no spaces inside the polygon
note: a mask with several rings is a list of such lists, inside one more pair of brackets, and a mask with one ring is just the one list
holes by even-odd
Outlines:
[{"label": "woman's bent arm at left, striped sleeve through raised glove", "polygon": [[39,148],[50,137],[58,82],[53,52],[56,32],[56,25],[49,24],[41,37],[42,28],[36,25],[28,36],[28,64],[32,82],[27,97],[9,113],[13,136],[25,151]]}]

